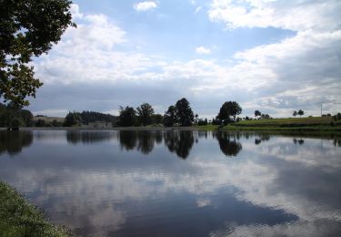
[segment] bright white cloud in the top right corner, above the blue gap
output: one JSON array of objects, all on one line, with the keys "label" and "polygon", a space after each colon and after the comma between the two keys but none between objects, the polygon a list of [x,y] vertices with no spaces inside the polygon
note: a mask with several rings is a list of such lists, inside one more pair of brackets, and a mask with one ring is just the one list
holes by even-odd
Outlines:
[{"label": "bright white cloud in the top right corner, above the blue gap", "polygon": [[211,20],[223,21],[229,28],[273,26],[326,31],[339,28],[336,19],[340,11],[338,0],[213,0],[208,14]]}]

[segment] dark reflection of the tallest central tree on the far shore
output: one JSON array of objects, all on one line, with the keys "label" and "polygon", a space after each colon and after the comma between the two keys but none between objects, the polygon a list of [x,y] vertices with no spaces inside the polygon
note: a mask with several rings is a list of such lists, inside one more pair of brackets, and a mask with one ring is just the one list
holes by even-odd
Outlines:
[{"label": "dark reflection of the tallest central tree on the far shore", "polygon": [[193,133],[193,131],[168,130],[165,132],[165,146],[170,152],[176,152],[178,157],[186,159],[195,143]]}]

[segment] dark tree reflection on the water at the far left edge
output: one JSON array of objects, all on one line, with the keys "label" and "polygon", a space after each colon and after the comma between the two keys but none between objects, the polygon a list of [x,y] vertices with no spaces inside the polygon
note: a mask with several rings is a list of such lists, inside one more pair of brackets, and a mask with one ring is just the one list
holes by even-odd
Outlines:
[{"label": "dark tree reflection on the water at the far left edge", "polygon": [[33,141],[31,131],[0,131],[0,155],[7,152],[15,156],[29,147]]}]

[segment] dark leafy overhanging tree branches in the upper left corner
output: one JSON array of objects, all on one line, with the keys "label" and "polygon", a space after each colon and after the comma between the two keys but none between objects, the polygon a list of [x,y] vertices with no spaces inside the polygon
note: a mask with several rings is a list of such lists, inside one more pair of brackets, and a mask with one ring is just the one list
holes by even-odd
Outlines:
[{"label": "dark leafy overhanging tree branches in the upper left corner", "polygon": [[32,57],[51,49],[68,26],[75,26],[69,0],[2,0],[0,6],[0,98],[21,108],[43,84]]}]

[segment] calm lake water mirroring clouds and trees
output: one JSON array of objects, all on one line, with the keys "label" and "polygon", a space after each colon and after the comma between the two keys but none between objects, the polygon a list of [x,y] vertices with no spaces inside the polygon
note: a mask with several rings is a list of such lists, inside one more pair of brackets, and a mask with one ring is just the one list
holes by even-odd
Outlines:
[{"label": "calm lake water mirroring clouds and trees", "polygon": [[341,140],[0,132],[0,179],[82,236],[341,236]]}]

